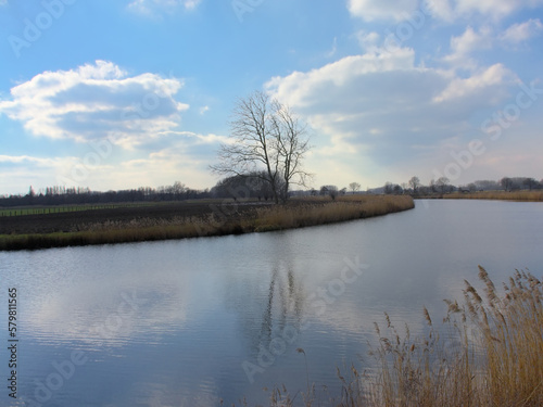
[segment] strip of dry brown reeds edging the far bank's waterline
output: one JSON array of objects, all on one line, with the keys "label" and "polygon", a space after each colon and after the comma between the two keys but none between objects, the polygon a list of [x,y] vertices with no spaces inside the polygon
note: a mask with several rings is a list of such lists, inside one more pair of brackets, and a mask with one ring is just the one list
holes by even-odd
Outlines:
[{"label": "strip of dry brown reeds edging the far bank's waterline", "polygon": [[289,205],[256,206],[238,211],[236,205],[214,207],[202,216],[173,218],[138,217],[111,221],[108,218],[81,225],[77,230],[52,233],[0,234],[0,250],[63,247],[89,244],[141,242],[210,236],[264,232],[324,225],[386,215],[414,207],[411,196],[342,196]]}]

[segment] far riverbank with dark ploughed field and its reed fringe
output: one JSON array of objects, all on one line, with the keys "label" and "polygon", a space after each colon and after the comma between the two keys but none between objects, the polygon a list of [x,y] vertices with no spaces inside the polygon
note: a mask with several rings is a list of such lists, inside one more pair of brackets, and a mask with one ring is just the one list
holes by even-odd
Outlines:
[{"label": "far riverbank with dark ploughed field and its reed fringe", "polygon": [[[293,199],[286,205],[202,202],[2,219],[0,250],[31,250],[265,232],[353,220],[414,207],[407,195]],[[47,225],[47,227],[45,226]],[[35,232],[37,230],[38,232]]]}]

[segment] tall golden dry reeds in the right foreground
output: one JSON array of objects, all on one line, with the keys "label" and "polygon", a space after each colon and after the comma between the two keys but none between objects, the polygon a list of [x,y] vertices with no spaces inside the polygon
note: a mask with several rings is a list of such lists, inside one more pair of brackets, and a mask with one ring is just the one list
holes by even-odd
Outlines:
[{"label": "tall golden dry reeds in the right foreground", "polygon": [[479,271],[483,293],[466,281],[464,304],[447,301],[441,329],[424,309],[424,338],[412,339],[408,327],[399,333],[386,316],[370,352],[376,367],[353,367],[349,377],[338,370],[342,392],[330,403],[310,385],[298,398],[282,386],[270,406],[543,406],[543,283],[516,271],[500,293]]}]

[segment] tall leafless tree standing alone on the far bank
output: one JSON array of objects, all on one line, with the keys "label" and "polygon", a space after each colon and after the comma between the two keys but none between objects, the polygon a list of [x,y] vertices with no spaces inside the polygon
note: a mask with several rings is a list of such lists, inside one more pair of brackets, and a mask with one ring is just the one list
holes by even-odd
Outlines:
[{"label": "tall leafless tree standing alone on the far bank", "polygon": [[239,99],[232,116],[231,141],[220,145],[218,164],[211,169],[229,176],[258,174],[275,202],[286,201],[289,186],[305,185],[311,176],[302,165],[311,149],[305,124],[261,91]]}]

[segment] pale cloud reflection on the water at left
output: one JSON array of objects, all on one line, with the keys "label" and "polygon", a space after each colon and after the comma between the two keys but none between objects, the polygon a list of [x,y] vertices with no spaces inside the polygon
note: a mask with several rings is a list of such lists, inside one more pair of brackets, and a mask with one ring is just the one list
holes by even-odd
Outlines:
[{"label": "pale cloud reflection on the water at left", "polygon": [[[39,341],[81,341],[104,346],[122,346],[128,341],[160,343],[171,330],[182,329],[188,284],[173,277],[157,281],[150,275],[127,284],[125,278],[106,283],[81,276],[77,282],[56,287],[41,297],[26,321]],[[138,333],[148,332],[147,338]]]}]

